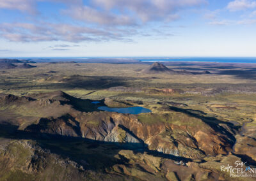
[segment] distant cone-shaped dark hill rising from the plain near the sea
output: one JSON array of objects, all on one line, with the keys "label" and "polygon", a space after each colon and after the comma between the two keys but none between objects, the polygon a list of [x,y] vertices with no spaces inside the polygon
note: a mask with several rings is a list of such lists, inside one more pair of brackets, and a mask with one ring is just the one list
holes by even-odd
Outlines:
[{"label": "distant cone-shaped dark hill rising from the plain near the sea", "polygon": [[142,73],[147,73],[147,74],[173,74],[173,75],[200,75],[200,74],[209,74],[211,72],[209,71],[203,71],[203,72],[190,72],[186,70],[181,70],[181,71],[175,71],[173,69],[169,69],[163,64],[159,62],[154,62],[149,68],[143,69],[141,71]]}]

